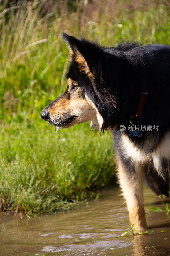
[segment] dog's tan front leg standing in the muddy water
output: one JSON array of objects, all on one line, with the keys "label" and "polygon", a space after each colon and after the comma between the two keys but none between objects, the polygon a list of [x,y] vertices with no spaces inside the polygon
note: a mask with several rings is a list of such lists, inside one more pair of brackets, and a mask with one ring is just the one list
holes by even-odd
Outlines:
[{"label": "dog's tan front leg standing in the muddy water", "polygon": [[124,160],[116,154],[119,183],[128,206],[131,225],[140,231],[147,228],[143,206],[143,165],[134,164],[131,159]]}]

